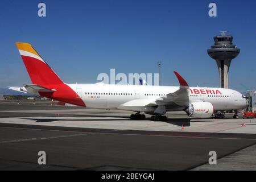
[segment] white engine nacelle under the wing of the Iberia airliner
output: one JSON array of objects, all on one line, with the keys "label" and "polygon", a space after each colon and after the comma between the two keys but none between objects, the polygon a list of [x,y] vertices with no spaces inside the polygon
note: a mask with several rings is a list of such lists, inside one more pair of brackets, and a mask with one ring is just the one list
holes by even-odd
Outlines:
[{"label": "white engine nacelle under the wing of the Iberia airliner", "polygon": [[185,112],[189,117],[209,118],[212,116],[214,108],[210,102],[192,102]]}]

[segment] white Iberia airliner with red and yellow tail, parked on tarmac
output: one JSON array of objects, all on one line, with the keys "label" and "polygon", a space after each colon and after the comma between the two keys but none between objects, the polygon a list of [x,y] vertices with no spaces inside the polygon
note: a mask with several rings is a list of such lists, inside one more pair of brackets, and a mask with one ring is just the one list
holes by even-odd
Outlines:
[{"label": "white Iberia airliner with red and yellow tail, parked on tarmac", "polygon": [[[130,119],[166,121],[167,111],[185,111],[189,117],[210,118],[217,110],[239,110],[247,105],[232,89],[190,87],[174,72],[180,86],[66,84],[28,43],[16,43],[32,84],[10,89],[32,93],[86,109],[134,111]],[[238,118],[234,115],[234,118]]]}]

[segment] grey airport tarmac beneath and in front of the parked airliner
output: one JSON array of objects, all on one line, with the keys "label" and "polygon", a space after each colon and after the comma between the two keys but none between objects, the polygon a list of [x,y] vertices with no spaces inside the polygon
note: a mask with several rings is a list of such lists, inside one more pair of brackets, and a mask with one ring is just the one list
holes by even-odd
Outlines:
[{"label": "grey airport tarmac beneath and in front of the parked airliner", "polygon": [[[131,113],[0,101],[0,170],[256,169],[256,119],[195,119],[182,111],[152,122],[150,115],[132,121]],[[39,151],[46,165],[38,164]],[[208,164],[209,151],[217,165]]]}]

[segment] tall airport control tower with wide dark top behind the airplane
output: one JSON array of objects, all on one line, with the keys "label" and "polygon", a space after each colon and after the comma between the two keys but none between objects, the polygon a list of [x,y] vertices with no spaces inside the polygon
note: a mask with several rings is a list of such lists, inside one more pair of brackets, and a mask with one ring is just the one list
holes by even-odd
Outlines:
[{"label": "tall airport control tower with wide dark top behind the airplane", "polygon": [[221,88],[228,88],[230,63],[240,53],[240,49],[233,45],[232,40],[233,36],[228,36],[226,31],[221,31],[220,36],[214,36],[214,46],[207,50],[208,55],[216,60]]}]

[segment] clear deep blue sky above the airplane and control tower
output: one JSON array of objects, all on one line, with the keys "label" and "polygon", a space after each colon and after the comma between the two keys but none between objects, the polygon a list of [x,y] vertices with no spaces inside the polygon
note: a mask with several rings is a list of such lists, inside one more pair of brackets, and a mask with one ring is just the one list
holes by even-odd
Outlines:
[{"label": "clear deep blue sky above the airplane and control tower", "polygon": [[[47,16],[38,16],[44,2]],[[217,17],[208,16],[210,2]],[[0,6],[0,88],[30,83],[15,42],[28,42],[67,83],[94,83],[99,73],[156,73],[178,85],[219,86],[207,54],[213,36],[228,30],[241,53],[232,61],[229,88],[256,90],[256,1],[11,1]]]}]

